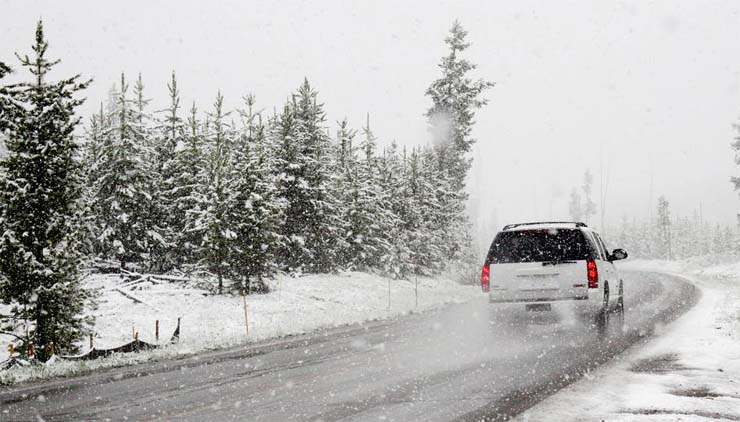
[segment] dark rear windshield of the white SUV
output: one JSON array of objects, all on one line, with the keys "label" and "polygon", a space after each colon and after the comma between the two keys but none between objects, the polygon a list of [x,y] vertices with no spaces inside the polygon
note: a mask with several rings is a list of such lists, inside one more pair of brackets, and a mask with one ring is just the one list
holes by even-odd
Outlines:
[{"label": "dark rear windshield of the white SUV", "polygon": [[590,256],[591,249],[580,230],[518,230],[496,235],[487,261],[489,264],[578,261]]}]

